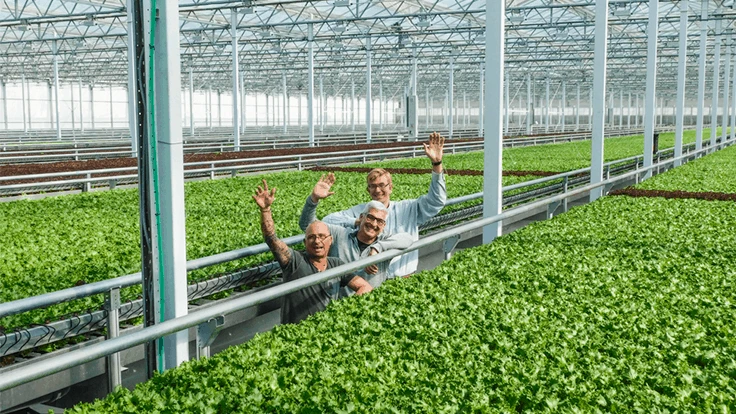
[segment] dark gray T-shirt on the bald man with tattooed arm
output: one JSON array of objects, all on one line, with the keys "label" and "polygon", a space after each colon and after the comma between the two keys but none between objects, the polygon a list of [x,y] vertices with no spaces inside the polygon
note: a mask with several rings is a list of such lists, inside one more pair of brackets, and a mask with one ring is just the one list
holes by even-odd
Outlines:
[{"label": "dark gray T-shirt on the bald man with tattooed arm", "polygon": [[[284,282],[319,272],[307,259],[306,252],[297,252],[294,249],[289,251],[291,260],[281,268]],[[327,269],[342,264],[345,262],[337,257],[327,258]],[[337,299],[336,293],[339,290],[337,285],[347,286],[354,277],[354,274],[347,274],[284,296],[281,303],[281,323],[297,323],[313,313],[323,311],[331,300]]]}]

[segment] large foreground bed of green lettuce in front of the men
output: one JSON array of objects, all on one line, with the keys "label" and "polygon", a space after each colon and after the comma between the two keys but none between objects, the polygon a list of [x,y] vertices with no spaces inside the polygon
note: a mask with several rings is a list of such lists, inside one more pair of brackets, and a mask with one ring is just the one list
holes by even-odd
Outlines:
[{"label": "large foreground bed of green lettuce in front of the men", "polygon": [[734,228],[604,197],[72,411],[731,412]]}]

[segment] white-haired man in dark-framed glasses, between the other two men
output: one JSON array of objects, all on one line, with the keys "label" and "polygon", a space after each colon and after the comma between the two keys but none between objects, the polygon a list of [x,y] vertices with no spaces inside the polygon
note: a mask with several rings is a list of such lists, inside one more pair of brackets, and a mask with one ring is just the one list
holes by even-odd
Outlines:
[{"label": "white-haired man in dark-framed glasses, between the other two men", "polygon": [[[329,173],[323,175],[307,197],[299,217],[299,227],[306,230],[312,223],[317,222],[317,205],[320,200],[334,194],[330,188],[335,183],[335,175]],[[357,228],[346,228],[334,224],[325,223],[332,235],[332,246],[328,252],[329,256],[336,256],[345,262],[352,262],[364,257],[372,256],[390,249],[405,249],[412,243],[409,233],[384,233],[388,210],[383,203],[371,201],[367,203],[358,215]],[[373,288],[381,286],[387,279],[389,263],[381,262],[371,265],[356,272],[365,279]],[[342,295],[350,295],[351,292],[344,290]]]}]

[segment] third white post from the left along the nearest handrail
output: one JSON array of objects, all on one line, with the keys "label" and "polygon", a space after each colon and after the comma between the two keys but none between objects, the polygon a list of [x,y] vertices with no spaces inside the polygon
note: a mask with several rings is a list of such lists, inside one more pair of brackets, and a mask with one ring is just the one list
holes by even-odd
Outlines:
[{"label": "third white post from the left along the nearest handrail", "polygon": [[[655,0],[656,1],[656,0]],[[603,136],[605,133],[606,61],[608,55],[608,0],[595,3],[595,53],[593,56],[593,135],[590,159],[591,184],[603,181]],[[593,202],[603,195],[598,187],[590,191]]]}]

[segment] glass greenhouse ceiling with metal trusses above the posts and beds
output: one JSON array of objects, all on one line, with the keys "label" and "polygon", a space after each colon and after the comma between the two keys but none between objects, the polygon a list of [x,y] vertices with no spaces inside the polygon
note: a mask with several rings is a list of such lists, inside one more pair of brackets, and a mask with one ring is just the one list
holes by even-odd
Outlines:
[{"label": "glass greenhouse ceiling with metal trusses above the posts and beds", "polygon": [[[718,42],[725,53],[736,28],[734,0],[689,1],[692,84],[697,81],[703,4],[708,9],[707,62],[713,61]],[[365,72],[367,47],[374,84],[406,84],[413,57],[420,90],[443,91],[451,60],[455,85],[477,88],[479,83],[484,0],[182,0],[179,7],[182,80],[188,84],[191,69],[195,89],[231,88],[233,18],[240,70],[250,89],[280,87],[282,72],[290,88],[304,87],[310,25],[315,77],[323,77],[333,91],[353,79],[361,79],[356,86],[363,87],[357,75]],[[509,79],[521,82],[529,74],[535,80],[564,79],[589,87],[594,7],[594,1],[507,1]],[[648,12],[648,1],[609,1],[609,85],[643,90]],[[679,18],[679,1],[659,2],[658,83],[664,94],[674,94]],[[0,78],[50,81],[58,53],[61,82],[124,85],[126,21],[125,0],[0,0]]]}]

